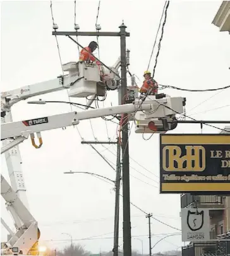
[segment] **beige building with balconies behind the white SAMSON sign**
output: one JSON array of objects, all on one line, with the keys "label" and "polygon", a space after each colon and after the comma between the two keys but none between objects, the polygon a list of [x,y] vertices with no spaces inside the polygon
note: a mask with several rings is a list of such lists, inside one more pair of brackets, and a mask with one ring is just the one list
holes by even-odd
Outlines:
[{"label": "beige building with balconies behind the white SAMSON sign", "polygon": [[[221,133],[230,131],[230,126],[226,126],[224,130]],[[181,209],[186,207],[211,209],[209,210],[210,239],[221,239],[221,241],[190,243],[182,248],[182,256],[230,256],[230,241],[224,241],[230,239],[230,191],[229,195],[224,196],[184,193],[181,195]]]}]

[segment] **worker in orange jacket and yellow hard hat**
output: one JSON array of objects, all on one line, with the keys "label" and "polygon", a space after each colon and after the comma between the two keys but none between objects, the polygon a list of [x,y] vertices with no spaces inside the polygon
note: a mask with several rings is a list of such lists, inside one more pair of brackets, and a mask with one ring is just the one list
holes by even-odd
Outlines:
[{"label": "worker in orange jacket and yellow hard hat", "polygon": [[139,92],[141,94],[147,95],[155,95],[158,92],[158,84],[157,82],[151,77],[150,71],[144,72],[145,81],[143,82],[142,87],[140,88]]}]

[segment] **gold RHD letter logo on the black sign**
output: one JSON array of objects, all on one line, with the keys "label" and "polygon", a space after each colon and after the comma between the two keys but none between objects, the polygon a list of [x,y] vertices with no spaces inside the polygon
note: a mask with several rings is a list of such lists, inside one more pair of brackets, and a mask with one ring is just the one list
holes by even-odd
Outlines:
[{"label": "gold RHD letter logo on the black sign", "polygon": [[201,145],[182,147],[176,145],[163,147],[162,168],[164,171],[203,171],[206,166],[205,148]]}]

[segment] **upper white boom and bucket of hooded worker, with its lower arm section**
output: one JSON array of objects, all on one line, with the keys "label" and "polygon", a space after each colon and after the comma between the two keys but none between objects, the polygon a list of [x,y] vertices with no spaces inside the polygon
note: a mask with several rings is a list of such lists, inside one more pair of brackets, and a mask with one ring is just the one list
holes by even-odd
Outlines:
[{"label": "upper white boom and bucket of hooded worker, with its lower arm section", "polygon": [[[116,73],[118,71],[117,68],[119,67],[111,67],[111,70]],[[101,81],[99,69],[95,63],[67,63],[63,65],[63,69],[64,71],[68,71],[67,75],[61,75],[53,80],[27,85],[15,90],[1,92],[1,124],[12,122],[13,119],[11,116],[11,107],[17,102],[23,101],[30,97],[48,94],[50,92],[56,92],[64,89],[69,89],[71,91],[70,97],[85,97],[85,95],[92,96],[97,95],[97,93],[100,93],[100,91],[102,91],[103,94],[105,90],[109,89],[107,85],[110,85],[111,83],[114,84],[114,73],[110,72],[106,68],[104,68],[104,71],[107,74],[107,81],[106,83]],[[118,78],[116,77],[116,79]],[[90,106],[90,103],[88,105]],[[26,133],[24,133],[21,137],[15,138],[15,140],[12,138],[3,140],[3,148],[1,153],[5,152],[6,165],[8,167],[12,190],[16,193],[17,197],[20,198],[21,203],[27,208],[27,210],[29,210],[25,181],[23,172],[21,170],[22,160],[20,150],[18,148],[18,143],[25,140],[25,138],[27,138]],[[3,186],[1,186],[1,192],[3,192]],[[8,205],[8,202],[6,202],[6,204]],[[7,206],[7,209],[15,221],[16,230],[21,230],[21,232],[25,231],[25,229],[22,228],[25,224],[17,216],[13,207]],[[1,219],[1,223],[12,236],[13,231],[9,231],[9,227],[3,219]],[[36,231],[36,233],[38,232]],[[23,236],[22,233],[20,233],[20,235]],[[13,245],[11,245],[11,247],[12,246]]]}]

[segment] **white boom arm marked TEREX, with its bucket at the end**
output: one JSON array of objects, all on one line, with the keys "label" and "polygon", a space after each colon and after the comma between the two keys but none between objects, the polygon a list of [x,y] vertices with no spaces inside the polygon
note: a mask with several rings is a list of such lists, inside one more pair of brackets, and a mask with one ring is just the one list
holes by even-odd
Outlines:
[{"label": "white boom arm marked TEREX, with its bucket at the end", "polygon": [[[73,111],[70,113],[56,114],[53,116],[45,116],[30,120],[3,123],[1,125],[1,140],[5,140],[7,138],[15,138],[18,140],[18,143],[20,143],[23,141],[23,138],[28,138],[30,135],[32,144],[34,145],[34,133],[37,133],[40,145],[42,145],[40,131],[78,125],[80,120],[99,118],[102,116],[110,116],[114,114],[135,113],[135,116],[138,116],[140,111],[142,111],[141,113],[143,114],[143,121],[147,121],[148,123],[151,121],[157,121],[160,122],[159,126],[164,124],[164,126],[166,126],[168,121],[171,121],[176,113],[183,113],[184,102],[185,99],[183,97],[169,97],[156,100],[155,96],[150,96],[145,99],[144,102],[136,100],[133,102],[133,104],[124,104],[114,107],[87,110],[79,113]],[[172,128],[168,126],[164,132],[171,129]],[[152,133],[157,133],[157,131],[152,131]],[[40,147],[40,145],[37,146],[37,148]],[[8,147],[10,147],[10,143],[8,144]],[[6,151],[6,149],[1,149],[1,151]]]}]

